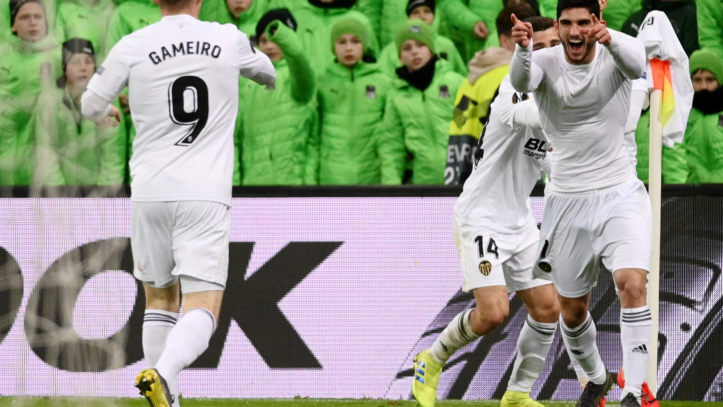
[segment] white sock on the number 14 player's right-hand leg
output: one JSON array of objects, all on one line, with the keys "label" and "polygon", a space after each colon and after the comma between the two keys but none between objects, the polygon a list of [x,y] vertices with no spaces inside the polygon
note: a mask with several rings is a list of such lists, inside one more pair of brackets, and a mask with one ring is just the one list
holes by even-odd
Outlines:
[{"label": "white sock on the number 14 player's right-hand leg", "polygon": [[556,329],[557,322],[537,322],[527,315],[527,322],[522,326],[517,338],[517,359],[507,390],[530,393],[532,385],[542,372],[544,359],[547,358]]}]

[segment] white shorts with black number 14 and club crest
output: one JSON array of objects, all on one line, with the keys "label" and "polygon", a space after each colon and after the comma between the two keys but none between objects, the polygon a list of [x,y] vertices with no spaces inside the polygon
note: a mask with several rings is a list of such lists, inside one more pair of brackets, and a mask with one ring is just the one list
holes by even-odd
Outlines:
[{"label": "white shorts with black number 14 and club crest", "polygon": [[508,293],[549,284],[534,278],[539,231],[534,223],[517,234],[500,234],[490,227],[463,225],[455,216],[454,236],[464,276],[463,291],[507,286]]}]

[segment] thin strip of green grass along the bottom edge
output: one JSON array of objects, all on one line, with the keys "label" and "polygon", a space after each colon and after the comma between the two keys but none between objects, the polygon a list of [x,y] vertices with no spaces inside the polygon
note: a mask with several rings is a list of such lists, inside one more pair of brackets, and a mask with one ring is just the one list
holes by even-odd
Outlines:
[{"label": "thin strip of green grass along the bottom edge", "polygon": [[[543,401],[547,407],[573,407],[573,401]],[[414,407],[408,400],[319,398],[185,398],[183,407]],[[723,402],[662,401],[661,407],[723,407]],[[144,398],[0,397],[0,407],[147,407]],[[499,407],[499,400],[440,400],[439,407]],[[619,407],[609,402],[607,406]]]}]

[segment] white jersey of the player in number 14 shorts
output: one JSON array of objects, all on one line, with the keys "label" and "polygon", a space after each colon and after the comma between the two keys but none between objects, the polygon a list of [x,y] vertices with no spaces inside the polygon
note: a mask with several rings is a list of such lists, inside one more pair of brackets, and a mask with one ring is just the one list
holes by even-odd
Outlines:
[{"label": "white jersey of the player in number 14 shorts", "polygon": [[549,145],[542,129],[521,122],[528,109],[537,109],[531,95],[515,92],[505,77],[455,205],[455,215],[466,225],[513,234],[534,224],[529,195]]}]

